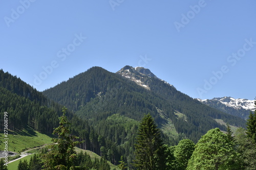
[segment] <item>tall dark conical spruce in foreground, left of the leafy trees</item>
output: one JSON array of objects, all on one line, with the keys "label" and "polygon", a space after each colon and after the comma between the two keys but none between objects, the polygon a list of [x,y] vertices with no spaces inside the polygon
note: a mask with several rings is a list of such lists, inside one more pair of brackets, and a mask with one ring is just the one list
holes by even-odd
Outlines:
[{"label": "tall dark conical spruce in foreground, left of the leafy trees", "polygon": [[135,167],[143,170],[165,169],[164,146],[160,131],[150,114],[140,123],[135,144]]}]

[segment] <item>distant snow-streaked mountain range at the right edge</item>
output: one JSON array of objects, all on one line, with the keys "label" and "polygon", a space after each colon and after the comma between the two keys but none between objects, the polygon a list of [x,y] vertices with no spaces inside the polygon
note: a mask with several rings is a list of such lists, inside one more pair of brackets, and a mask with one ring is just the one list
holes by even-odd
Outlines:
[{"label": "distant snow-streaked mountain range at the right edge", "polygon": [[241,117],[243,119],[247,119],[250,112],[255,110],[255,100],[234,99],[227,96],[223,98],[214,98],[211,100],[197,100],[212,108],[216,108],[220,111]]}]

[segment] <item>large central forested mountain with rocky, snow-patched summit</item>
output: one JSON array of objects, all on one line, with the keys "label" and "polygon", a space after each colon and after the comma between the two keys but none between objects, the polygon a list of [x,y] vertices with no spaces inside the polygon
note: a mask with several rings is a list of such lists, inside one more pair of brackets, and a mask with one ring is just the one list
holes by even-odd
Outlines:
[{"label": "large central forested mountain with rocky, snow-patched summit", "polygon": [[[147,113],[155,118],[167,144],[177,144],[183,138],[197,142],[212,128],[225,130],[215,119],[245,127],[245,120],[190,98],[148,70],[138,71],[130,66],[121,70],[133,72],[133,76],[140,78],[140,84],[136,83],[137,79],[131,81],[132,75],[127,76],[129,79],[101,67],[92,67],[43,94],[88,120],[97,133],[119,145],[128,163],[134,159],[138,122]],[[101,150],[106,156],[112,152]]]}]

